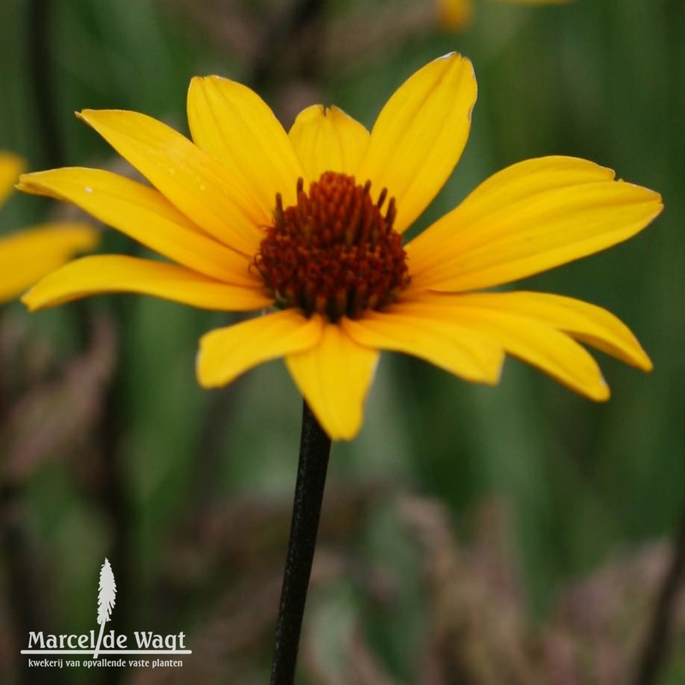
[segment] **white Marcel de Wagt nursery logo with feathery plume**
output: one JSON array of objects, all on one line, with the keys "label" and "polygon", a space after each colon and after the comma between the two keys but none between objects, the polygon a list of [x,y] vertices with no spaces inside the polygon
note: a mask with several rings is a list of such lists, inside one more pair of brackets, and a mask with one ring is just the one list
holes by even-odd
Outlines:
[{"label": "white Marcel de Wagt nursery logo with feathery plume", "polygon": [[[44,634],[42,630],[29,632],[29,644],[27,649],[22,649],[22,654],[45,654],[45,655],[81,655],[92,654],[92,660],[76,660],[62,658],[56,660],[29,659],[29,666],[58,667],[62,668],[66,661],[67,667],[84,666],[86,668],[101,666],[136,666],[147,667],[152,665],[158,667],[179,667],[183,666],[181,660],[155,660],[150,664],[149,660],[136,659],[129,660],[107,660],[102,656],[110,654],[192,654],[190,649],[186,649],[186,635],[183,632],[167,635],[155,634],[152,631],[134,632],[134,647],[128,647],[129,636],[116,634],[114,630],[105,633],[105,623],[111,620],[112,609],[116,601],[116,582],[114,582],[114,572],[107,558],[100,569],[100,582],[97,594],[97,623],[100,631],[95,640],[95,630],[90,630],[81,635],[53,635]],[[98,657],[100,659],[98,660]]]}]

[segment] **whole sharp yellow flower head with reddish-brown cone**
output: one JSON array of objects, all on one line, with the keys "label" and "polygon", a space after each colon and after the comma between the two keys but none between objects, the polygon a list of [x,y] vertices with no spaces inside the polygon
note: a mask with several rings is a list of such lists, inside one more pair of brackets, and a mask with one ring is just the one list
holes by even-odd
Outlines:
[{"label": "whole sharp yellow flower head with reddish-brown cone", "polygon": [[285,358],[329,436],[349,439],[380,350],[497,384],[505,353],[586,397],[609,390],[580,340],[640,369],[649,358],[609,312],[539,292],[474,292],[626,240],[662,209],[656,192],[592,162],[514,164],[403,245],[402,234],[458,162],[476,82],[458,54],[430,62],[390,97],[369,134],[314,105],[286,133],[249,88],[192,79],[191,142],[144,114],[81,118],[153,188],[96,169],[21,177],[177,262],[94,256],[67,264],[23,301],[155,295],[210,310],[268,310],[203,336],[199,382],[222,386]]}]

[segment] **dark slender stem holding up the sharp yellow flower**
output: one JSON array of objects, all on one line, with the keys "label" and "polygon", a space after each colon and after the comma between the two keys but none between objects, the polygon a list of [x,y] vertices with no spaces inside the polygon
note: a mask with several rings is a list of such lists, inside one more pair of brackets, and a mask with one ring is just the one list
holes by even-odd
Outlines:
[{"label": "dark slender stem holding up the sharp yellow flower", "polygon": [[330,451],[331,439],[325,434],[319,421],[316,421],[305,401],[290,541],[271,665],[271,685],[291,685],[295,680],[297,649],[312,573]]}]

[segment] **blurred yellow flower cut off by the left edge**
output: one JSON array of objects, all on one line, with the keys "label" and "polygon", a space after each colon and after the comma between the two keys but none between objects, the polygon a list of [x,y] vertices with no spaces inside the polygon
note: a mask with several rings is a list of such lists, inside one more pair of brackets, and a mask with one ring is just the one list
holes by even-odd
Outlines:
[{"label": "blurred yellow flower cut off by the left edge", "polygon": [[[0,151],[0,206],[24,167],[16,155]],[[0,304],[21,295],[38,279],[92,249],[97,233],[82,223],[47,223],[0,238]]]}]

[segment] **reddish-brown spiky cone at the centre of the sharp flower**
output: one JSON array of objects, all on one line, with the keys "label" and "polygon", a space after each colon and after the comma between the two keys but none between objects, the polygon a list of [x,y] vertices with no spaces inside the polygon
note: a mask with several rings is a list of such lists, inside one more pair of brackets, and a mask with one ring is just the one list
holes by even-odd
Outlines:
[{"label": "reddish-brown spiky cone at the centre of the sharp flower", "polygon": [[395,199],[384,189],[376,203],[371,181],[327,171],[286,209],[276,195],[273,225],[254,264],[278,306],[352,319],[395,301],[410,277],[402,236],[393,229]]}]

